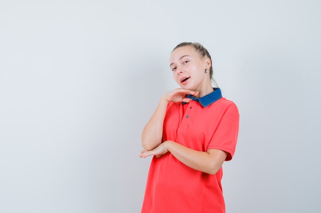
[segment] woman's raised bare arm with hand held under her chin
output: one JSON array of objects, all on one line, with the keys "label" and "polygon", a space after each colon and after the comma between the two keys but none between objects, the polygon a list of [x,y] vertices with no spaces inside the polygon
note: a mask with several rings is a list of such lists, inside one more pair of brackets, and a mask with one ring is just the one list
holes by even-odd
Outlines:
[{"label": "woman's raised bare arm with hand held under her chin", "polygon": [[162,143],[163,125],[167,105],[169,102],[190,102],[191,99],[185,98],[186,94],[196,96],[198,92],[179,88],[169,91],[162,96],[155,112],[142,132],[142,146],[145,150],[153,150]]}]

